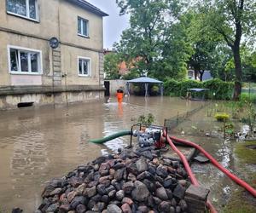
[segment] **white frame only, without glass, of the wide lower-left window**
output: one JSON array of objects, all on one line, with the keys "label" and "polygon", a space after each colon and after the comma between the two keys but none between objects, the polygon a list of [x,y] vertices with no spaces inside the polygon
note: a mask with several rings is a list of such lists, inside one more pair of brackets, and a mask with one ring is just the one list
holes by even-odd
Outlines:
[{"label": "white frame only, without glass, of the wide lower-left window", "polygon": [[[9,64],[9,73],[10,74],[15,74],[15,75],[42,75],[43,74],[43,61],[42,61],[42,51],[38,49],[29,49],[29,48],[23,48],[19,46],[13,46],[13,45],[8,45],[8,64]],[[11,70],[11,60],[10,60],[10,49],[17,49],[21,51],[26,51],[26,52],[34,52],[38,53],[38,72],[31,72],[31,63],[28,63],[28,72],[21,72],[20,70],[20,51],[19,51],[19,66],[18,66],[18,71],[12,71]],[[30,60],[30,55],[28,55],[28,60]]]}]

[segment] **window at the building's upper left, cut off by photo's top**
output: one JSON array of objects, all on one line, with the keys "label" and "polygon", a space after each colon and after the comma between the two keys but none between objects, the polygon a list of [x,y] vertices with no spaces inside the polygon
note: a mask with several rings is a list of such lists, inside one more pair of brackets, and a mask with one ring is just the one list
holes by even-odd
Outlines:
[{"label": "window at the building's upper left, cut off by photo's top", "polygon": [[7,0],[7,11],[31,20],[38,20],[38,0]]}]

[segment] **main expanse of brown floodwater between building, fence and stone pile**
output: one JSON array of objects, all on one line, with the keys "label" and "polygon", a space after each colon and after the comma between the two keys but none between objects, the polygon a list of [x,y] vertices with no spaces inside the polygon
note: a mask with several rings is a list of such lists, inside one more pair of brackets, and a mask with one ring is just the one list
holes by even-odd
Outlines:
[{"label": "main expanse of brown floodwater between building, fence and stone pile", "polygon": [[129,143],[127,137],[107,145],[92,144],[90,139],[130,129],[148,112],[154,114],[155,124],[162,125],[165,118],[202,104],[170,97],[131,96],[124,101],[0,112],[0,212],[14,207],[33,212],[46,181]]}]

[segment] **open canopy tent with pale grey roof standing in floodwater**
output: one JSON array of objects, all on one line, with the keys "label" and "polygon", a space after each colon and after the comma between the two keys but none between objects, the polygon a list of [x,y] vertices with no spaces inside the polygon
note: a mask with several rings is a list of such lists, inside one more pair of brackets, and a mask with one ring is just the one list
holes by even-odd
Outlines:
[{"label": "open canopy tent with pale grey roof standing in floodwater", "polygon": [[130,95],[130,83],[143,83],[144,86],[145,86],[145,97],[149,96],[149,93],[148,93],[148,84],[149,83],[158,83],[158,84],[160,84],[160,94],[161,95],[164,94],[163,82],[159,81],[157,79],[154,79],[154,78],[140,77],[140,78],[134,78],[130,81],[127,81],[127,83],[126,83],[126,94],[128,94],[128,95]]}]

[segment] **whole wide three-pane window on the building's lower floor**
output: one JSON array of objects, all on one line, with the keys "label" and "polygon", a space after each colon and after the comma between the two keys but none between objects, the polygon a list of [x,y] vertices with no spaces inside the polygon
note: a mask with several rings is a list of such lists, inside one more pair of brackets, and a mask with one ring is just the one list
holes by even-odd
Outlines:
[{"label": "whole wide three-pane window on the building's lower floor", "polygon": [[42,71],[41,55],[39,50],[9,46],[9,72],[40,74]]}]

